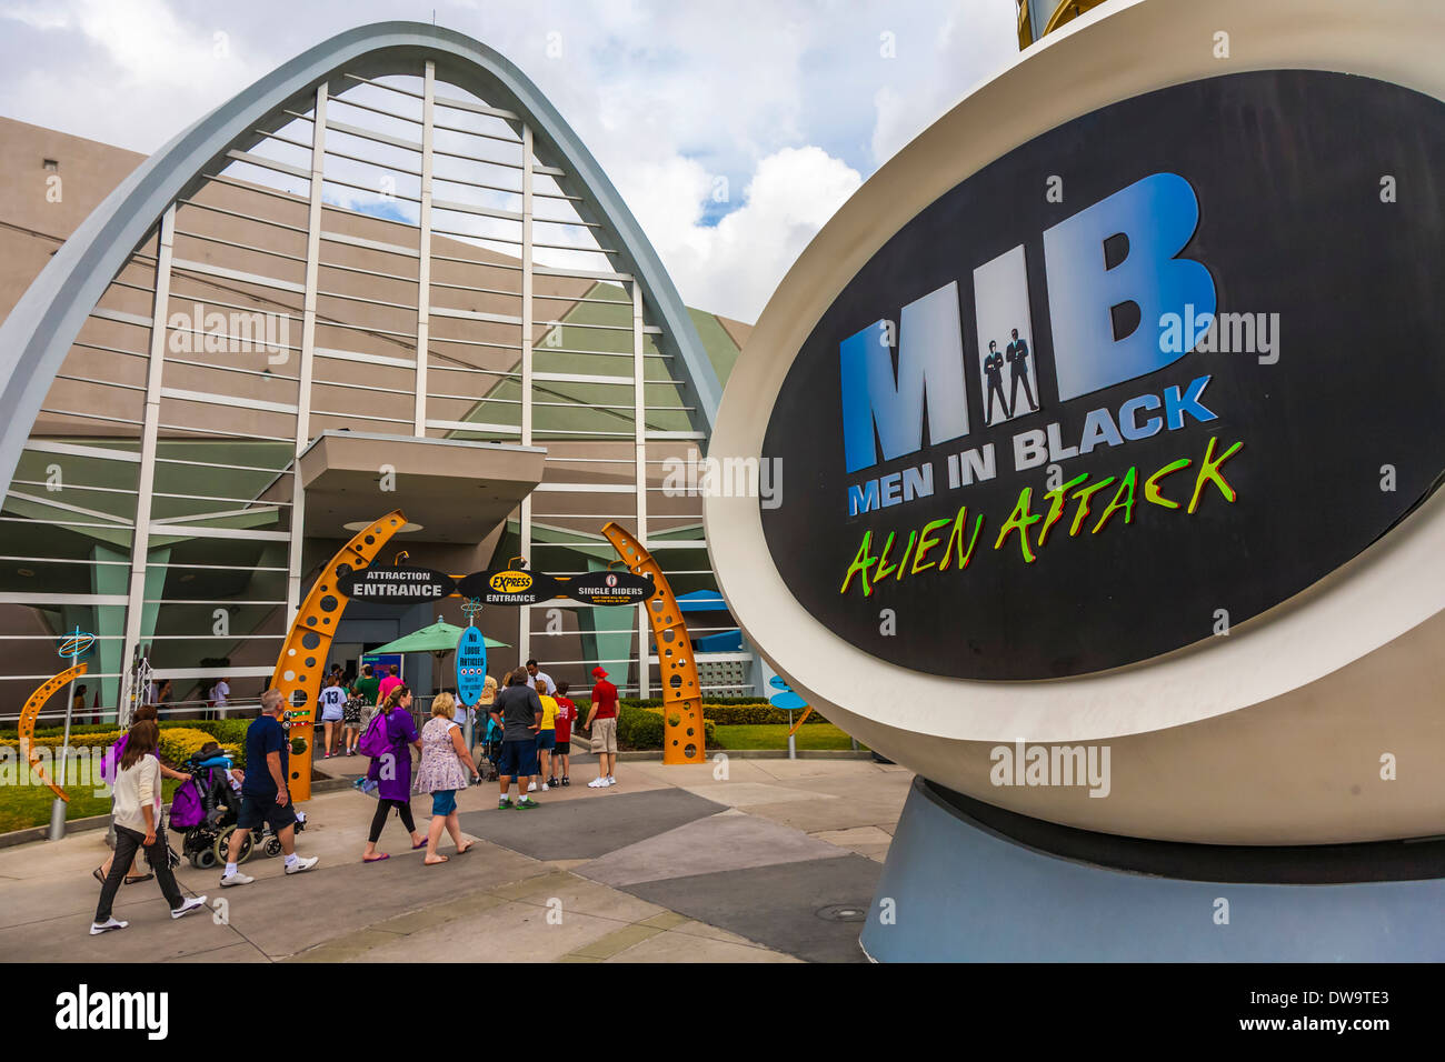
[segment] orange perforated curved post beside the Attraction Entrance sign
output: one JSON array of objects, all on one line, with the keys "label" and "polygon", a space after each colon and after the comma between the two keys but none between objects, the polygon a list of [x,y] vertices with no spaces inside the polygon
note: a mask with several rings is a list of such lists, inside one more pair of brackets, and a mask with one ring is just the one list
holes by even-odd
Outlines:
[{"label": "orange perforated curved post beside the Attraction Entrance sign", "polygon": [[[321,572],[306,600],[301,603],[296,621],[290,626],[286,643],[282,646],[272,673],[272,689],[279,689],[289,705],[290,720],[290,777],[288,787],[292,800],[311,799],[311,753],[316,724],[316,701],[321,698],[321,679],[327,670],[327,653],[331,639],[341,623],[350,598],[337,590],[337,579],[357,568],[368,566],[393,535],[402,530],[406,514],[396,509],[366,530],[357,532],[341,552]],[[301,748],[296,741],[301,740]],[[253,766],[253,764],[247,764]]]}]

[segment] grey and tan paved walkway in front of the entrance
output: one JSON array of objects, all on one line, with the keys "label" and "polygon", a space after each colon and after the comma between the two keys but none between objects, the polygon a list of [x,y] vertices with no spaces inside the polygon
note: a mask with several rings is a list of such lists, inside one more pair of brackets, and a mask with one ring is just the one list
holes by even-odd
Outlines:
[{"label": "grey and tan paved walkway in front of the entrance", "polygon": [[[366,760],[324,763],[360,772]],[[663,767],[624,763],[605,790],[595,767],[536,793],[536,811],[496,809],[496,785],[461,793],[462,831],[478,839],[435,867],[409,851],[393,818],[392,858],[360,861],[376,808],[324,793],[299,838],[319,855],[286,877],[256,855],[256,883],[220,890],[220,873],[176,871],[186,894],[228,909],[173,922],[153,881],[123,886],[130,928],[87,933],[105,857],[100,831],[0,851],[3,961],[863,961],[867,910],[912,773],[861,760],[731,759]],[[413,800],[425,832],[429,798]],[[441,851],[451,854],[451,841]]]}]

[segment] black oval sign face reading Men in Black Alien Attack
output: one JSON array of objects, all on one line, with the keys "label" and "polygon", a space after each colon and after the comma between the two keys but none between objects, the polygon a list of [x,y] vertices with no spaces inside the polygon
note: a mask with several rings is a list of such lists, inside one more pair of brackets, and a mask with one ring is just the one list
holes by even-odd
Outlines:
[{"label": "black oval sign face reading Men in Black Alien Attack", "polygon": [[783,584],[893,666],[1085,675],[1227,636],[1445,470],[1445,105],[1234,74],[1059,126],[903,225],[763,436]]}]

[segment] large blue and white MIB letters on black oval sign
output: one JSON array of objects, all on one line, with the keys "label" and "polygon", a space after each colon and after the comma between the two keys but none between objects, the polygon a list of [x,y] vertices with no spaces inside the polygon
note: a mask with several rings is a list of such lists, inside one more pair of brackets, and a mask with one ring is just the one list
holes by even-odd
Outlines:
[{"label": "large blue and white MIB letters on black oval sign", "polygon": [[[1160,342],[1152,325],[1170,314],[1188,312],[1194,321],[1214,315],[1209,270],[1178,257],[1198,221],[1199,204],[1189,182],[1176,173],[1155,173],[1043,231],[1058,402],[1146,376],[1192,350]],[[844,464],[850,474],[920,451],[925,422],[929,445],[938,446],[970,436],[972,410],[991,428],[1043,407],[1026,266],[1027,250],[1019,244],[972,272],[978,367],[972,406],[957,280],[902,308],[896,357],[886,319],[842,341]],[[991,464],[991,451],[965,449],[958,467]],[[931,465],[896,475],[900,494],[933,490]],[[863,507],[871,507],[866,498],[892,494],[892,480],[880,477],[877,484],[851,490],[850,497],[857,494]],[[853,503],[850,510],[858,511]]]}]

